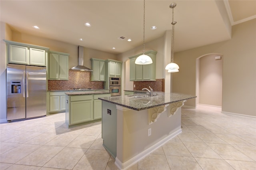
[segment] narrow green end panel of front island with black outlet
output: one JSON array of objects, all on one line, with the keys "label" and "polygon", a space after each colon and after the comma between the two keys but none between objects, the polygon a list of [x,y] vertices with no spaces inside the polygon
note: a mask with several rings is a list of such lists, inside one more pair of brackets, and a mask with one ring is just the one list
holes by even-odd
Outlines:
[{"label": "narrow green end panel of front island with black outlet", "polygon": [[[111,112],[111,113],[110,113]],[[111,115],[110,115],[111,114]],[[116,158],[116,105],[102,101],[102,139],[103,146]]]}]

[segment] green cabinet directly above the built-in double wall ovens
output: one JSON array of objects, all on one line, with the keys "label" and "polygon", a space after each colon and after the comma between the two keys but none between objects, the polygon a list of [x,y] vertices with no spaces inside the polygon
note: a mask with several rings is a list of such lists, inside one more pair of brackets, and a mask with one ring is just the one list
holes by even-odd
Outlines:
[{"label": "green cabinet directly above the built-in double wall ovens", "polygon": [[108,59],[106,62],[108,63],[108,77],[121,77],[122,61]]}]

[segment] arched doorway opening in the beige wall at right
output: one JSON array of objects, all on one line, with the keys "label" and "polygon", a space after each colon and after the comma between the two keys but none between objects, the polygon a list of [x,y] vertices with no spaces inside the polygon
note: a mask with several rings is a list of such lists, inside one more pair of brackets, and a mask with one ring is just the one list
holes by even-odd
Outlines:
[{"label": "arched doorway opening in the beige wall at right", "polygon": [[223,55],[210,53],[196,59],[196,105],[222,107]]}]

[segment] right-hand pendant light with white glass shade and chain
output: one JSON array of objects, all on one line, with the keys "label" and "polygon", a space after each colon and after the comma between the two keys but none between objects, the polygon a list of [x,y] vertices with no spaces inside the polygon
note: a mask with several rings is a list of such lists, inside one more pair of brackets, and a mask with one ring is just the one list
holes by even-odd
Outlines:
[{"label": "right-hand pendant light with white glass shade and chain", "polygon": [[168,70],[168,73],[174,73],[179,71],[178,64],[174,63],[174,25],[177,23],[173,21],[173,8],[176,6],[176,3],[170,4],[170,8],[172,8],[172,45],[171,45],[171,63],[166,65],[165,69]]}]

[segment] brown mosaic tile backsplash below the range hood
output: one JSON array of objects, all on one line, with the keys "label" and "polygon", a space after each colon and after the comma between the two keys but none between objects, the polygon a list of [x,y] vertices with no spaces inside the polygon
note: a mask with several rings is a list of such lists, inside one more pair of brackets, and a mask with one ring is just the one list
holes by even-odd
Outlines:
[{"label": "brown mosaic tile backsplash below the range hood", "polygon": [[48,80],[48,90],[104,89],[104,82],[90,80],[90,72],[69,70],[68,80]]}]

